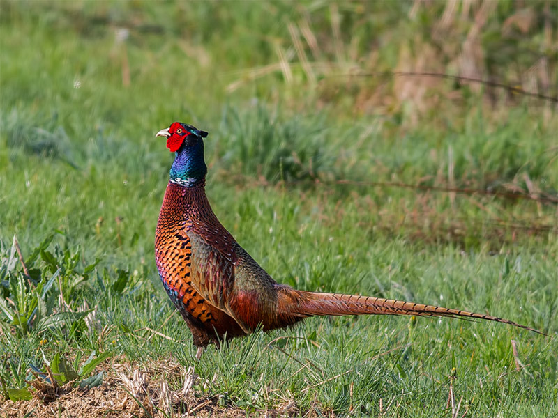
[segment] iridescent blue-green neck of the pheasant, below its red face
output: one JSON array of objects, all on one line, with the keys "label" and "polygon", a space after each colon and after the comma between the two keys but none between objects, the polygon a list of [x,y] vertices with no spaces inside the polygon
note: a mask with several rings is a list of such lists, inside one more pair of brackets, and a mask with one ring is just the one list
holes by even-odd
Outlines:
[{"label": "iridescent blue-green neck of the pheasant, below its red face", "polygon": [[197,185],[205,178],[207,166],[204,161],[204,143],[198,141],[193,146],[183,145],[176,151],[170,169],[170,180],[183,187]]}]

